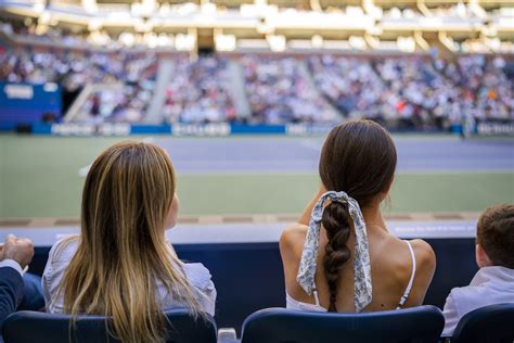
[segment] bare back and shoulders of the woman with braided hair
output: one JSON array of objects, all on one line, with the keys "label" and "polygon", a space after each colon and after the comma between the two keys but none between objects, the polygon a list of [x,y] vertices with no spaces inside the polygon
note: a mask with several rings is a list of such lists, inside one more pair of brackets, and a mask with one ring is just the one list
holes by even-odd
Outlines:
[{"label": "bare back and shoulders of the woman with braided hair", "polygon": [[[308,295],[296,281],[307,230],[308,227],[301,224],[287,228],[281,238],[281,253],[290,301],[293,298],[293,302],[316,304],[314,296]],[[373,294],[371,303],[363,310],[376,312],[397,308],[400,305],[401,297],[406,294],[413,272],[414,280],[404,307],[421,305],[434,270],[435,256],[429,245],[421,240],[409,242],[415,257],[415,261],[412,261],[407,241],[391,236],[381,227],[369,226],[368,239]],[[330,302],[327,279],[323,267],[326,243],[326,234],[321,229],[314,282],[320,306],[324,309],[329,308]],[[354,244],[355,234],[350,234],[348,246],[354,246]],[[415,270],[413,269],[413,262],[415,262]],[[355,254],[351,254],[350,258],[339,269],[337,312],[356,312],[354,304],[354,264]]]}]

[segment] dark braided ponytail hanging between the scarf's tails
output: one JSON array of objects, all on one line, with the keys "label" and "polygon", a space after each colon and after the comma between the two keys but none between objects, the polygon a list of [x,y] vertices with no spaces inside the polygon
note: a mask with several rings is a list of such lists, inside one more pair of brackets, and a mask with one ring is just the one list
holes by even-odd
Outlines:
[{"label": "dark braided ponytail hanging between the scarf's tails", "polygon": [[350,237],[348,204],[331,202],[324,209],[321,224],[326,231],[329,243],[325,245],[323,261],[325,278],[329,283],[329,312],[337,312],[337,290],[339,288],[339,270],[350,258],[350,250],[346,245]]}]

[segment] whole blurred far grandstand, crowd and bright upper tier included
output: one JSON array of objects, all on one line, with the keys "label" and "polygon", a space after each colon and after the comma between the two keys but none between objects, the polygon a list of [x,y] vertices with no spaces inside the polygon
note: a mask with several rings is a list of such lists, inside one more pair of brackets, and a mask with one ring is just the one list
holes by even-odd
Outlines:
[{"label": "whole blurred far grandstand, crowd and bright upper tier included", "polygon": [[[514,118],[514,12],[502,1],[27,0],[0,4],[0,79],[80,89],[64,122],[273,125],[343,115],[450,130]],[[231,89],[241,84],[244,99]]]}]

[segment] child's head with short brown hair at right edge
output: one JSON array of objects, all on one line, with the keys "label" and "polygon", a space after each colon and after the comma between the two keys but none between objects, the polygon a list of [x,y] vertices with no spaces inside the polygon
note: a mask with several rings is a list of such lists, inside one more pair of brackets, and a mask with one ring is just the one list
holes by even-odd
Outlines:
[{"label": "child's head with short brown hair at right edge", "polygon": [[476,232],[478,267],[502,266],[514,269],[514,205],[487,208],[478,219]]}]

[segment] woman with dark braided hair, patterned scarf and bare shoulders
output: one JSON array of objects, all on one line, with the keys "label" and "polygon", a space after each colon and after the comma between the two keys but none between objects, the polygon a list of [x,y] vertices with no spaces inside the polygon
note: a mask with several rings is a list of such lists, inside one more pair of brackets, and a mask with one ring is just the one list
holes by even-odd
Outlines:
[{"label": "woman with dark braided hair, patterned scarf and bare shoulders", "polygon": [[359,313],[423,303],[434,252],[422,240],[389,233],[381,212],[396,161],[393,139],[373,122],[330,132],[321,189],[280,239],[288,308]]}]

